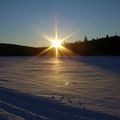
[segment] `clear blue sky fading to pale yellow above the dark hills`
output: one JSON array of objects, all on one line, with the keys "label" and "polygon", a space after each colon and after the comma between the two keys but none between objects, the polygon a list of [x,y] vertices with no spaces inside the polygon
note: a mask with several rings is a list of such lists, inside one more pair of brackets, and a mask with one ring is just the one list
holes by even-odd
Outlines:
[{"label": "clear blue sky fading to pale yellow above the dark hills", "polygon": [[49,46],[45,36],[74,42],[120,35],[120,0],[0,0],[0,43]]}]

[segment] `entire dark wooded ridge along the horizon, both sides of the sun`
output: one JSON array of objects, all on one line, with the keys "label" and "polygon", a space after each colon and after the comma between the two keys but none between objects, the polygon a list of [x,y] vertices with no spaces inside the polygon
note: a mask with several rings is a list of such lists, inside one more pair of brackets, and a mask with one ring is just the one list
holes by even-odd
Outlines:
[{"label": "entire dark wooded ridge along the horizon, both sides of the sun", "polygon": [[[84,41],[75,42],[65,42],[63,46],[73,51],[76,54],[73,55],[83,55],[83,56],[104,56],[120,55],[120,36],[106,36],[104,38],[97,38],[92,40],[87,40],[85,37]],[[47,47],[28,47],[15,44],[0,43],[0,56],[43,56],[43,55],[55,55],[54,48],[47,52],[43,52]],[[66,56],[65,50],[59,50],[60,56]],[[44,54],[43,54],[44,53]]]}]

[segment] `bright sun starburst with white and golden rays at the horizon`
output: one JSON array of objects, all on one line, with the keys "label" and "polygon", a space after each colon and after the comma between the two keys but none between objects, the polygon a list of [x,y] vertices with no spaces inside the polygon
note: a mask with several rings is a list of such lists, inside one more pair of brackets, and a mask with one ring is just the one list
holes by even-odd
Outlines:
[{"label": "bright sun starburst with white and golden rays at the horizon", "polygon": [[65,48],[62,43],[69,39],[70,37],[72,37],[76,32],[72,32],[71,34],[68,34],[65,37],[59,38],[58,36],[58,25],[57,25],[57,18],[55,18],[55,33],[54,33],[54,37],[47,33],[47,34],[43,34],[43,38],[45,38],[46,40],[48,40],[51,43],[51,46],[47,47],[45,50],[43,50],[43,52],[39,53],[38,55],[43,55],[45,53],[47,53],[48,51],[50,51],[52,48],[55,48],[55,56],[56,58],[59,57],[59,55],[74,55],[75,53],[72,52],[71,50],[69,50],[68,48]]}]

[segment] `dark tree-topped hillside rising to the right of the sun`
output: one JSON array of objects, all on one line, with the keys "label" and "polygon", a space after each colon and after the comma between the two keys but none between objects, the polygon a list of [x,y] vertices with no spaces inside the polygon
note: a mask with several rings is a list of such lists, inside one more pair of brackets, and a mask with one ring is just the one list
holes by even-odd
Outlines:
[{"label": "dark tree-topped hillside rising to the right of the sun", "polygon": [[93,38],[84,41],[64,42],[63,46],[74,51],[78,55],[120,55],[120,36],[109,36]]}]

